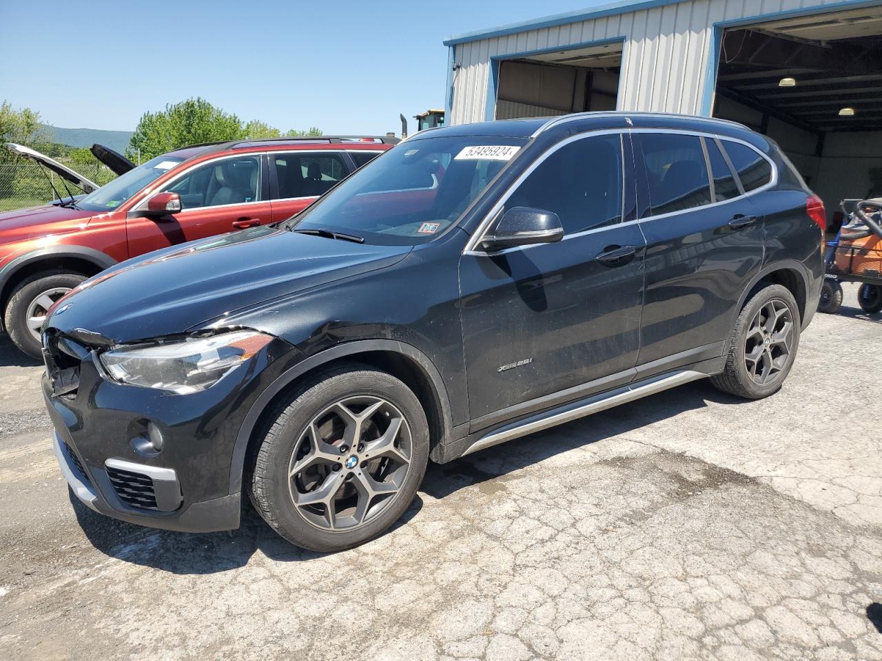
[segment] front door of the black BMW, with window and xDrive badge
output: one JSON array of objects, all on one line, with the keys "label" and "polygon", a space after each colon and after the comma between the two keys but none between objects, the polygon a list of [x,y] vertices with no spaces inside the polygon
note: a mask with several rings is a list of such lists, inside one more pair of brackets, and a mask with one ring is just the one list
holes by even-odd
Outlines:
[{"label": "front door of the black BMW, with window and xDrive badge", "polygon": [[628,137],[620,133],[560,146],[505,209],[557,213],[564,239],[461,257],[473,430],[631,380],[644,241],[636,222],[623,221],[633,202],[630,163]]}]

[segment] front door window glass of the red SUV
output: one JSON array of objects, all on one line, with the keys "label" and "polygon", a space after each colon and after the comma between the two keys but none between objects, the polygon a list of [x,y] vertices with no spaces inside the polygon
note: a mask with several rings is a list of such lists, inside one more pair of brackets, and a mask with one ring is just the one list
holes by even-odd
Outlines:
[{"label": "front door window glass of the red SUV", "polygon": [[213,160],[192,169],[165,189],[181,197],[182,209],[260,200],[260,157]]}]

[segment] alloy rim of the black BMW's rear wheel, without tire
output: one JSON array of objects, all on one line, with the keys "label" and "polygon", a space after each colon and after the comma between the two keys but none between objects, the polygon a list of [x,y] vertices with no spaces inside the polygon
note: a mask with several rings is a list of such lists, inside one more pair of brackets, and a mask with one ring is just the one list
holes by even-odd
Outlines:
[{"label": "alloy rim of the black BMW's rear wheel, without tire", "polygon": [[773,299],[759,308],[744,340],[744,365],[758,385],[768,385],[787,367],[793,349],[793,314]]}]

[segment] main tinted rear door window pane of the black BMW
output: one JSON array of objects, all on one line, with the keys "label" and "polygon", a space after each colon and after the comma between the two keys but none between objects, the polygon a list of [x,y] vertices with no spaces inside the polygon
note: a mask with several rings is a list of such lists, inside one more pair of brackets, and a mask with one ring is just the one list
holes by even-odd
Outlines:
[{"label": "main tinted rear door window pane of the black BMW", "polygon": [[649,184],[649,215],[682,212],[711,203],[705,152],[698,136],[639,133]]}]

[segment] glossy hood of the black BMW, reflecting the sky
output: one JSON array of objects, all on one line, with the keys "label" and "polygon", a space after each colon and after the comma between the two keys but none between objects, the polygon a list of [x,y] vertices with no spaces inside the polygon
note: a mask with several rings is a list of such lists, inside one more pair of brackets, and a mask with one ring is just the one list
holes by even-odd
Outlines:
[{"label": "glossy hood of the black BMW, reflecting the sky", "polygon": [[59,301],[47,325],[78,331],[95,344],[176,335],[228,312],[383,268],[410,250],[256,227],[118,264]]}]

